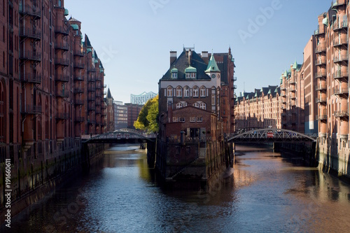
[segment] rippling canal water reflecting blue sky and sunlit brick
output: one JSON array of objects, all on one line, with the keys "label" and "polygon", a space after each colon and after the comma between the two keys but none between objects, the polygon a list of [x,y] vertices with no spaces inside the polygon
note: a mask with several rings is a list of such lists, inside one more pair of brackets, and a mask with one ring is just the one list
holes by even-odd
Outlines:
[{"label": "rippling canal water reflecting blue sky and sunlit brick", "polygon": [[270,148],[241,153],[214,190],[167,191],[139,146],[116,146],[0,232],[349,232],[350,185]]}]

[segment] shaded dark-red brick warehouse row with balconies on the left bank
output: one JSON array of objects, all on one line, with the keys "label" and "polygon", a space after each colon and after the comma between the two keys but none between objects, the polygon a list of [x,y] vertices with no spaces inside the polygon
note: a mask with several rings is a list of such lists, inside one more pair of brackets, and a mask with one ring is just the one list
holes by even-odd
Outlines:
[{"label": "shaded dark-red brick warehouse row with balconies on the left bank", "polygon": [[13,174],[48,166],[14,186],[18,195],[38,177],[68,169],[82,134],[105,132],[104,67],[81,23],[67,20],[63,0],[6,0],[0,6],[0,163],[9,157]]}]

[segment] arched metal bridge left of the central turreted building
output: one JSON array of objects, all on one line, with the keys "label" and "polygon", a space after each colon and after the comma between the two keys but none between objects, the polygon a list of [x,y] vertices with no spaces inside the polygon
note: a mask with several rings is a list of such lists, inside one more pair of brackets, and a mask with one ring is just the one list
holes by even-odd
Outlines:
[{"label": "arched metal bridge left of the central turreted building", "polygon": [[134,129],[119,129],[96,135],[83,135],[83,143],[142,143],[154,142],[156,134],[144,134]]}]

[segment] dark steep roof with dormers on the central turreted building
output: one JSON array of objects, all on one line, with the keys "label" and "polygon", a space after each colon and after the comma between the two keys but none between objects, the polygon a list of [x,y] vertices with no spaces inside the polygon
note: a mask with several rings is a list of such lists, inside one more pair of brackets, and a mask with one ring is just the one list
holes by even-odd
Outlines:
[{"label": "dark steep roof with dormers on the central turreted building", "polygon": [[[190,58],[190,64],[188,63],[188,55],[186,55],[188,51],[183,50],[181,52],[181,55],[172,63],[172,66],[169,67],[167,73],[161,78],[161,80],[186,80],[186,74],[185,69],[189,66],[194,67],[197,69],[197,76],[195,79],[200,80],[211,80],[211,78],[207,75],[207,73],[204,73],[204,71],[207,69],[207,64],[205,64],[204,60],[200,55],[197,54],[195,51],[191,51],[191,58]],[[178,70],[178,78],[174,79],[172,78],[172,69]],[[193,80],[192,78],[190,80]]]}]

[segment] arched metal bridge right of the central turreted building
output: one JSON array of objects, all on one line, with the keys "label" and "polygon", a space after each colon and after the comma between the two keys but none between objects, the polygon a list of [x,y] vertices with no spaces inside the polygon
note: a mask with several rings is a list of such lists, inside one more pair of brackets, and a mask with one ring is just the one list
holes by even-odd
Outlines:
[{"label": "arched metal bridge right of the central turreted building", "polygon": [[252,129],[230,135],[228,142],[314,142],[316,139],[317,136],[308,136],[288,129]]}]

